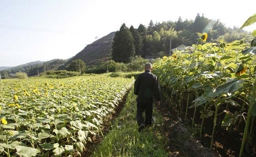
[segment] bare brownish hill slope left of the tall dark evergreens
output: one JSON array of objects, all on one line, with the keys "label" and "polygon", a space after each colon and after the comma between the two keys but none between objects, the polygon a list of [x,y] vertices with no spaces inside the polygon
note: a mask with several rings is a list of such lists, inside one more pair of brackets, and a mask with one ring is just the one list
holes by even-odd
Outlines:
[{"label": "bare brownish hill slope left of the tall dark evergreens", "polygon": [[108,53],[109,56],[111,55],[109,50],[111,49],[114,36],[115,32],[112,32],[96,40],[92,44],[87,45],[82,51],[80,51],[73,58],[67,61],[64,66],[60,67],[59,69],[62,69],[63,67],[69,65],[70,62],[77,59],[82,59],[85,62],[86,66],[91,66],[95,62],[105,60],[108,56]]}]

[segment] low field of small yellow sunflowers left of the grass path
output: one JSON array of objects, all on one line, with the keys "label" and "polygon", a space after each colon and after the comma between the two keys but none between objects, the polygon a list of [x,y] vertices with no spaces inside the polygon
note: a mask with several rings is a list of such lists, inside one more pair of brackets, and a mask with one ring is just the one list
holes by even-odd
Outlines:
[{"label": "low field of small yellow sunflowers left of the grass path", "polygon": [[103,75],[0,83],[0,156],[80,155],[134,79]]}]

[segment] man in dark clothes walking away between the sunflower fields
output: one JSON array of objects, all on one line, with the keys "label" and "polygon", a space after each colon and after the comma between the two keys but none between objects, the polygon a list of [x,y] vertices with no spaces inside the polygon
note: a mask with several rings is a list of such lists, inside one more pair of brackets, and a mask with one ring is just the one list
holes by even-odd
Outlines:
[{"label": "man in dark clothes walking away between the sunflower fields", "polygon": [[[134,83],[134,94],[137,95],[137,115],[136,120],[141,132],[144,127],[152,124],[153,96],[160,105],[160,88],[156,75],[151,73],[152,64],[145,64],[145,72],[138,75]],[[145,111],[144,121],[142,113]]]}]

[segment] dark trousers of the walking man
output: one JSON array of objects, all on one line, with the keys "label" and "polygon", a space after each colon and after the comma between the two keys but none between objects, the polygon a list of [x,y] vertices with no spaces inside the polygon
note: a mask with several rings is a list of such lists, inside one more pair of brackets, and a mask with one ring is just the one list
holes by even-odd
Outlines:
[{"label": "dark trousers of the walking man", "polygon": [[[146,119],[142,116],[142,113],[145,111]],[[152,111],[153,111],[153,103],[139,103],[137,102],[137,124],[140,126],[145,123],[145,126],[152,125]]]}]

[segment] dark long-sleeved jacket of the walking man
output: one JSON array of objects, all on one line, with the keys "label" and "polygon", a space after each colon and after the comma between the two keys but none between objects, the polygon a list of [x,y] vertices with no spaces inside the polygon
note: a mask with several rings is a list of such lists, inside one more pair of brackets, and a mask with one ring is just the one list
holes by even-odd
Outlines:
[{"label": "dark long-sleeved jacket of the walking man", "polygon": [[160,101],[160,88],[156,75],[149,70],[139,74],[134,83],[134,94],[138,95],[136,100],[139,103],[152,103],[153,96]]}]

